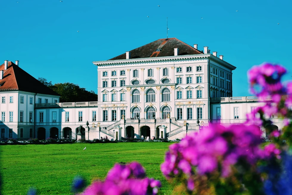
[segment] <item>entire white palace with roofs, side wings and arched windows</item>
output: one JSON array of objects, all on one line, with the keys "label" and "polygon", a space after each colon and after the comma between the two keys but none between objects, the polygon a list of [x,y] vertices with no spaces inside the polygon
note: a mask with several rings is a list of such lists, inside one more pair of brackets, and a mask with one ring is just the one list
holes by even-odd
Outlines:
[{"label": "entire white palace with roofs, side wings and arched windows", "polygon": [[[208,47],[200,51],[197,46],[159,39],[93,62],[98,72],[98,100],[93,102],[60,103],[60,95],[22,70],[18,61],[5,61],[0,66],[1,139],[77,139],[83,125],[79,136],[91,140],[173,140],[210,123],[245,122],[246,114],[265,102],[232,97],[236,67]],[[27,87],[31,85],[35,87]],[[283,127],[277,116],[266,117]]]}]

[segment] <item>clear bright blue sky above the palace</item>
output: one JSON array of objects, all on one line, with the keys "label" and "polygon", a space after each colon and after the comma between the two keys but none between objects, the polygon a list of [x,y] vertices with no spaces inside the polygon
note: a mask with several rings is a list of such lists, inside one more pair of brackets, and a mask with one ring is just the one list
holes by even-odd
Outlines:
[{"label": "clear bright blue sky above the palace", "polygon": [[0,61],[19,60],[52,83],[97,92],[92,61],[165,38],[166,17],[168,37],[208,46],[237,67],[233,96],[249,94],[246,72],[253,65],[280,63],[289,71],[285,80],[292,76],[291,1],[17,1],[0,1]]}]

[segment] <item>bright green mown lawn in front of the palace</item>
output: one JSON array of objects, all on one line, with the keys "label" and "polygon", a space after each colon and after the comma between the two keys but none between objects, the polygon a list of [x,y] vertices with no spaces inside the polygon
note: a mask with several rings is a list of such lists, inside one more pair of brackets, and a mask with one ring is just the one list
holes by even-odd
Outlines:
[{"label": "bright green mown lawn in front of the palace", "polygon": [[[87,183],[104,179],[118,162],[138,161],[147,177],[160,180],[159,194],[171,194],[172,187],[160,171],[164,153],[171,143],[129,142],[105,144],[47,144],[0,146],[1,193],[26,194],[29,187],[38,194],[71,194],[75,175]],[[86,147],[86,150],[83,148]]]}]

